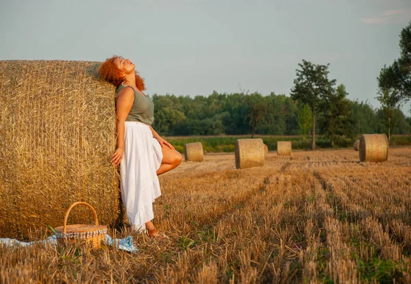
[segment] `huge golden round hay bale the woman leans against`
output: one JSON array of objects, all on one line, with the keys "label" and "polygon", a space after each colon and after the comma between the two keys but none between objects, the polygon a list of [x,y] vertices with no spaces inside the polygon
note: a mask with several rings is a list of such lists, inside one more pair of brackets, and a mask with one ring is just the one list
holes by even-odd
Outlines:
[{"label": "huge golden round hay bale the woman leans against", "polygon": [[[0,61],[0,235],[58,227],[75,201],[101,224],[119,209],[114,88],[99,62]],[[72,224],[91,221],[75,209]],[[85,220],[86,219],[86,220]]]}]

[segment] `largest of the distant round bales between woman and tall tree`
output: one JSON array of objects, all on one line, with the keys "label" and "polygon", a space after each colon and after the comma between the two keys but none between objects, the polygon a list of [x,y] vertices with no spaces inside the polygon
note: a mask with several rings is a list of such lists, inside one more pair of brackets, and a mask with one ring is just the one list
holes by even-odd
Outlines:
[{"label": "largest of the distant round bales between woman and tall tree", "polygon": [[264,166],[262,139],[236,140],[236,168]]}]

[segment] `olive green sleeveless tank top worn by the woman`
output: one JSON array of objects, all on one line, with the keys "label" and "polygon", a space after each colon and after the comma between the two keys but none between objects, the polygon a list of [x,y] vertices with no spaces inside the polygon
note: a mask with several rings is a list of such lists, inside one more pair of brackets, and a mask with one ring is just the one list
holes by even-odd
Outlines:
[{"label": "olive green sleeveless tank top worn by the woman", "polygon": [[[132,86],[120,85],[116,88],[116,96],[123,88],[132,88]],[[134,90],[134,88],[132,88]],[[152,125],[154,121],[154,104],[148,96],[143,96],[134,90],[134,102],[132,109],[125,121],[140,121],[146,125]]]}]

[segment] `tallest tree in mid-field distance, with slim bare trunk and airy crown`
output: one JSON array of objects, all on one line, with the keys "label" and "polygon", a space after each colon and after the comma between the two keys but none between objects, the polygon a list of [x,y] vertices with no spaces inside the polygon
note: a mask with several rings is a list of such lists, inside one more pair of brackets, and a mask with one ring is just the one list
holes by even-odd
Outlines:
[{"label": "tallest tree in mid-field distance, with slim bare trunk and airy crown", "polygon": [[312,64],[303,60],[298,64],[301,69],[297,69],[297,79],[294,80],[294,87],[291,89],[292,99],[310,105],[312,112],[312,149],[315,149],[315,122],[316,112],[321,111],[323,99],[333,92],[335,79],[328,79],[328,66]]}]

